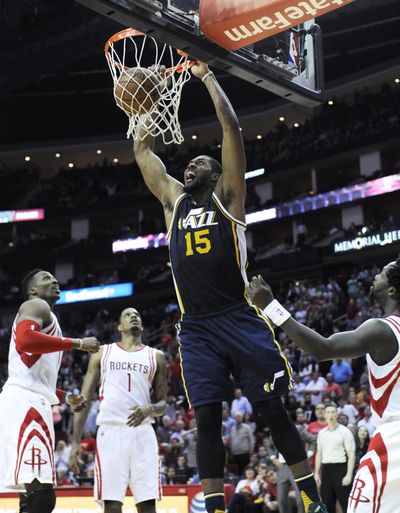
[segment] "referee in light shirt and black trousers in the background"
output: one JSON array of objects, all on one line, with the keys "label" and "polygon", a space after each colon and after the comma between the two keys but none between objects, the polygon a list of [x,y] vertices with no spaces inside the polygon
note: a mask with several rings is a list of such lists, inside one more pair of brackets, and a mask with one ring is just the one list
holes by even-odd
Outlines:
[{"label": "referee in light shirt and black trousers in the background", "polygon": [[339,424],[337,418],[336,404],[328,404],[325,407],[327,427],[318,433],[317,438],[315,479],[328,513],[335,513],[337,500],[343,511],[347,511],[355,461],[353,433]]}]

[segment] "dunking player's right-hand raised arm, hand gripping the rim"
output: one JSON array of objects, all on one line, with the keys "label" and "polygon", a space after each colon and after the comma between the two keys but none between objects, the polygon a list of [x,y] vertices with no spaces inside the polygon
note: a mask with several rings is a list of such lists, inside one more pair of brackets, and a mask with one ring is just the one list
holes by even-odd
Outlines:
[{"label": "dunking player's right-hand raised arm, hand gripping the rim", "polygon": [[246,155],[238,118],[206,64],[199,62],[194,65],[192,73],[201,78],[207,87],[222,128],[222,175],[215,192],[230,214],[245,221]]}]

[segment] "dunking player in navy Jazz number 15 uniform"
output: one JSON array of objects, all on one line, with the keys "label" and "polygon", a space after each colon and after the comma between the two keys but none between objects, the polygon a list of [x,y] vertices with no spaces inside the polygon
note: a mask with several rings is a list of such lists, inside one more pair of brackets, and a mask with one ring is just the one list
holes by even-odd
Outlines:
[{"label": "dunking player in navy Jazz number 15 uniform", "polygon": [[246,299],[246,157],[238,119],[207,65],[197,63],[192,72],[207,88],[222,127],[222,166],[198,156],[188,163],[182,184],[154,154],[145,127],[136,134],[134,149],[148,188],[164,207],[182,312],[182,376],[196,413],[206,509],[225,509],[222,401],[231,397],[232,373],[290,466],[306,512],[323,513],[303,443],[280,399],[290,387],[290,366],[266,318]]}]

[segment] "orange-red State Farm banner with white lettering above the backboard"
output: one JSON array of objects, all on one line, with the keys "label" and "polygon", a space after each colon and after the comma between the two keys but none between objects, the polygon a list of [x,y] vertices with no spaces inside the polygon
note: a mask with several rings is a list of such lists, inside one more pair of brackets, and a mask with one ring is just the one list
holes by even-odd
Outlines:
[{"label": "orange-red State Farm banner with white lettering above the backboard", "polygon": [[200,0],[200,28],[214,43],[237,50],[354,0]]}]

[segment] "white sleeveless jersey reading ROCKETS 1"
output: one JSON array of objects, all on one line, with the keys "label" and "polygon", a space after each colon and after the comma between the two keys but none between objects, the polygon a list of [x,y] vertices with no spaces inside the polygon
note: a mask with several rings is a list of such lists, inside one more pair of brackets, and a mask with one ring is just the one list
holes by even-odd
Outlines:
[{"label": "white sleeveless jersey reading ROCKETS 1", "polygon": [[131,408],[151,403],[156,349],[142,345],[136,351],[127,351],[116,342],[103,347],[100,365],[97,424],[126,424]]}]

